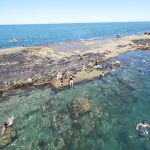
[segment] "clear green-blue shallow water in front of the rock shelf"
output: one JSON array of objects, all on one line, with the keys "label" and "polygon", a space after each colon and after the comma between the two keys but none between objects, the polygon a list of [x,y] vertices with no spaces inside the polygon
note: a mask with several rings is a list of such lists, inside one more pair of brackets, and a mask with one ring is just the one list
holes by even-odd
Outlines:
[{"label": "clear green-blue shallow water in front of the rock shelf", "polygon": [[[135,129],[150,120],[149,58],[148,51],[128,52],[119,57],[124,67],[103,79],[8,97],[0,103],[0,122],[14,115],[18,136],[4,150],[149,150],[150,136],[141,138]],[[80,96],[91,100],[92,112],[73,123],[67,103]]]}]

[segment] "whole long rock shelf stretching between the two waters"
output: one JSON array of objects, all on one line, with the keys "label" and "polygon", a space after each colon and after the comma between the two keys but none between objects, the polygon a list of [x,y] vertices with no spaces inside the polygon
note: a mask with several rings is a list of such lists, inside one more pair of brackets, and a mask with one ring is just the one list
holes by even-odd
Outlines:
[{"label": "whole long rock shelf stretching between the two waters", "polygon": [[[76,76],[75,83],[98,77],[110,68],[95,69],[95,62],[108,60],[127,51],[150,50],[150,35],[132,35],[118,39],[69,42],[51,47],[17,47],[0,50],[0,94],[24,87],[50,84],[59,89],[59,71]],[[118,67],[118,66],[117,66]],[[116,68],[117,68],[116,67]],[[86,69],[84,69],[86,68]],[[90,73],[89,73],[90,72]],[[69,86],[65,83],[64,87]]]}]

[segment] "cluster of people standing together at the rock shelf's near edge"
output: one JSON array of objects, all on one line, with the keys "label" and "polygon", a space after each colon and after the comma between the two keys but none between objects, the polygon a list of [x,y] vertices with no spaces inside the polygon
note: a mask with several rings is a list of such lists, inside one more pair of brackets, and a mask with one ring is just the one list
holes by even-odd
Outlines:
[{"label": "cluster of people standing together at the rock shelf's near edge", "polygon": [[73,84],[74,84],[74,80],[73,79],[74,79],[74,76],[72,76],[72,75],[68,76],[67,73],[59,72],[57,74],[57,80],[59,81],[59,85],[61,87],[64,86],[64,80],[68,80],[70,87],[73,87]]}]

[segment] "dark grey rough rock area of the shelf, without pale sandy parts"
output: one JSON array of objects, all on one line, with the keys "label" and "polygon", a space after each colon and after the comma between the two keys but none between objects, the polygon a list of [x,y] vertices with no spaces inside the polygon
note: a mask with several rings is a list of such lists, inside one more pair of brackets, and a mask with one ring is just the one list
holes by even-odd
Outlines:
[{"label": "dark grey rough rock area of the shelf, without pale sandy parts", "polygon": [[[85,53],[55,59],[51,55],[41,58],[29,50],[0,55],[0,94],[5,96],[18,89],[51,85],[51,81],[56,79],[58,71],[74,75],[83,70],[91,72],[95,69],[95,62],[104,63],[105,55]],[[105,70],[107,69],[105,67]]]}]

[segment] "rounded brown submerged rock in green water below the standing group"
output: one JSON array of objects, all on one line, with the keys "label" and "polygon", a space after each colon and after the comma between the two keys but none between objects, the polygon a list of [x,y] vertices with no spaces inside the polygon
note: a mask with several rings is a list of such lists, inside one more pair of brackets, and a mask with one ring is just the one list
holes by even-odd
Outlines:
[{"label": "rounded brown submerged rock in green water below the standing group", "polygon": [[70,112],[70,117],[72,119],[77,119],[90,112],[92,109],[92,104],[87,98],[80,97],[78,99],[71,100],[68,104],[68,109]]}]

